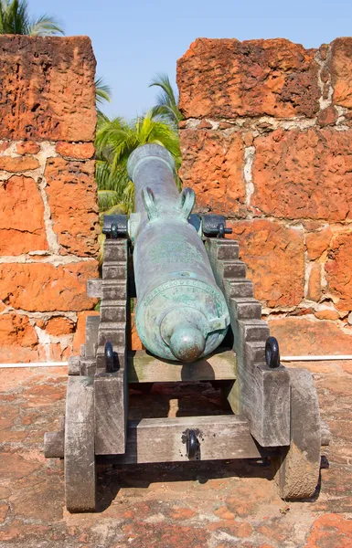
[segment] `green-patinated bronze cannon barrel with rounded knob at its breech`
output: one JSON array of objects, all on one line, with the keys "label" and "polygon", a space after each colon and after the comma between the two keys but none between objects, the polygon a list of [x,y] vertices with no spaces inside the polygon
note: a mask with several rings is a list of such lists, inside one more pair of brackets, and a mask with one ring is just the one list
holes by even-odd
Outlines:
[{"label": "green-patinated bronze cannon barrel with rounded knob at its breech", "polygon": [[219,346],[229,325],[202,239],[188,223],[195,194],[178,192],[173,157],[160,145],[138,147],[127,168],[135,187],[129,233],[137,332],[151,353],[194,362]]}]

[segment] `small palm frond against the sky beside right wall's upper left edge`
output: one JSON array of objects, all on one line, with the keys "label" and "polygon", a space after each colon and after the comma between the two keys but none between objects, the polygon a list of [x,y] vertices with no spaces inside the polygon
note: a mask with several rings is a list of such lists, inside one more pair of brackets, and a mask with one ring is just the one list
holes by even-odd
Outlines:
[{"label": "small palm frond against the sky beside right wall's upper left edge", "polygon": [[152,109],[152,115],[160,120],[168,121],[178,128],[178,123],[183,120],[183,116],[178,110],[178,96],[173,90],[170,79],[166,74],[157,74],[149,84],[149,88],[153,86],[161,88],[161,92],[156,96],[156,105]]}]

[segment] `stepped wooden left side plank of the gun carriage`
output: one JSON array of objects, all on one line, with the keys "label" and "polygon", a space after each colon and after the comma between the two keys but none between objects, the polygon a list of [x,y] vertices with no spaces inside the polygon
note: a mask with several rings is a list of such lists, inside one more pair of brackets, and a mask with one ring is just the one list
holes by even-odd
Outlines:
[{"label": "stepped wooden left side plank of the gun carriage", "polygon": [[[126,368],[126,319],[128,242],[125,238],[107,239],[102,265],[101,322],[94,377],[96,454],[124,453],[128,414]],[[106,372],[105,342],[117,353],[118,370]]]}]

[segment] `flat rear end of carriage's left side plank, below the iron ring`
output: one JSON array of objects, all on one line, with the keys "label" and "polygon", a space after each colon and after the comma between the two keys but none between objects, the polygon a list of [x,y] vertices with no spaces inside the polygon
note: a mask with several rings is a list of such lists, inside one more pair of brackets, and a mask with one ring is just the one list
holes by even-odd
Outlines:
[{"label": "flat rear end of carriage's left side plank, below the iron ring", "polygon": [[94,407],[95,453],[124,453],[128,414],[126,369],[95,375]]}]

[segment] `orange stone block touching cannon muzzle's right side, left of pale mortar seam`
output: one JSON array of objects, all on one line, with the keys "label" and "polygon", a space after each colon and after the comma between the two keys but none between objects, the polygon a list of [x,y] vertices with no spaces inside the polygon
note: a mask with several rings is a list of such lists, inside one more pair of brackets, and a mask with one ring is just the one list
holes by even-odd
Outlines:
[{"label": "orange stone block touching cannon muzzle's right side, left of pale mortar seam", "polygon": [[183,185],[195,191],[197,207],[224,215],[239,213],[245,198],[240,133],[183,130],[180,137],[180,176]]}]

